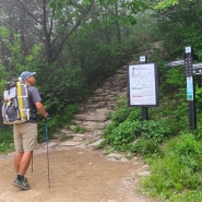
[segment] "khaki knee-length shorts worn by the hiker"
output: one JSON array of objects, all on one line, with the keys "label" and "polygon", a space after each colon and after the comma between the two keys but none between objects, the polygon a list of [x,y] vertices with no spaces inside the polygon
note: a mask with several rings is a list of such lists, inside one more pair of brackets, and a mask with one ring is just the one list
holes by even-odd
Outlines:
[{"label": "khaki knee-length shorts worn by the hiker", "polygon": [[15,152],[34,151],[37,144],[37,123],[19,123],[13,127]]}]

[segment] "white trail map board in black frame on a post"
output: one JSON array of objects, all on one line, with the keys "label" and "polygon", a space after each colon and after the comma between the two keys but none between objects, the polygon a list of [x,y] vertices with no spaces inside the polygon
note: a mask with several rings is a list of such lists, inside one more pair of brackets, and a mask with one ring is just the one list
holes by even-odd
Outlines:
[{"label": "white trail map board in black frame on a post", "polygon": [[128,66],[128,104],[134,107],[158,106],[158,78],[155,63]]}]

